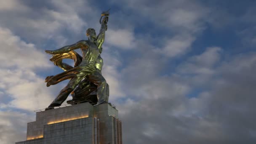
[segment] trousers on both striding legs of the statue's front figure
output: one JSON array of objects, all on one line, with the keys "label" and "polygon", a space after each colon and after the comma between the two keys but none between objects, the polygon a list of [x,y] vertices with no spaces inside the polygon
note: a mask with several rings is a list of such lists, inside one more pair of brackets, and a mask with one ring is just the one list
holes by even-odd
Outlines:
[{"label": "trousers on both striding legs of the statue's front figure", "polygon": [[[59,95],[56,97],[56,99],[53,100],[51,105],[49,107],[54,107],[61,105],[69,96],[69,94],[75,89],[75,87],[85,78],[85,76],[79,76],[79,77],[74,77],[72,78],[67,86],[61,90]],[[97,104],[102,104],[106,102],[106,87],[107,87],[107,82],[104,79],[104,77],[101,75],[101,73],[94,71],[90,73],[89,75],[86,76],[86,78],[97,85],[97,98],[98,98],[98,103]]]}]

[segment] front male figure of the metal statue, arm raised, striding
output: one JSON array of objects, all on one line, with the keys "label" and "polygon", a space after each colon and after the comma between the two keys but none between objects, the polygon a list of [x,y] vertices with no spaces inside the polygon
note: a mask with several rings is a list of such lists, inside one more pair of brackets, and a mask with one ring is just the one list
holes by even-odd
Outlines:
[{"label": "front male figure of the metal statue, arm raised, striding", "polygon": [[104,16],[104,18],[101,23],[101,30],[98,37],[96,37],[95,30],[89,28],[86,30],[88,40],[80,40],[73,45],[67,45],[55,51],[45,50],[46,53],[58,54],[67,53],[80,48],[83,54],[83,59],[78,67],[74,67],[58,75],[47,77],[45,79],[47,86],[55,85],[63,80],[71,79],[67,86],[61,90],[56,99],[54,99],[45,110],[60,106],[67,99],[69,93],[71,93],[84,78],[97,85],[97,104],[106,102],[107,83],[95,66],[95,62],[99,56],[99,48],[101,48],[101,45],[104,42],[105,31],[107,30],[107,21],[109,16],[108,11],[102,13],[101,16]]}]

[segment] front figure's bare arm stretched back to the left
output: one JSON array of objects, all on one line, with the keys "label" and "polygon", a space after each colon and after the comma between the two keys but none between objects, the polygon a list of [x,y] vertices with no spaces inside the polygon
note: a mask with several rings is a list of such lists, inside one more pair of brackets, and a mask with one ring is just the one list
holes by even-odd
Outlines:
[{"label": "front figure's bare arm stretched back to the left", "polygon": [[62,47],[60,49],[57,49],[55,51],[45,50],[45,53],[50,53],[50,54],[67,53],[69,51],[72,51],[72,50],[75,50],[75,49],[81,48],[81,47],[88,48],[87,41],[80,40],[79,42],[77,42],[77,43],[75,43],[73,45],[67,45],[67,46],[64,46],[64,47]]}]

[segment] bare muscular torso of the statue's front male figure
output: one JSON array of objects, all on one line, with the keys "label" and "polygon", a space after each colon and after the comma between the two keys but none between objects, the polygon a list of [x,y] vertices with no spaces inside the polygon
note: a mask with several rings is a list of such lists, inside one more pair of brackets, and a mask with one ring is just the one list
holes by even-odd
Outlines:
[{"label": "bare muscular torso of the statue's front male figure", "polygon": [[99,49],[95,43],[92,43],[90,41],[87,41],[88,48],[81,47],[81,51],[83,54],[83,59],[80,63],[80,66],[86,65],[86,64],[95,64],[96,60],[99,56]]}]

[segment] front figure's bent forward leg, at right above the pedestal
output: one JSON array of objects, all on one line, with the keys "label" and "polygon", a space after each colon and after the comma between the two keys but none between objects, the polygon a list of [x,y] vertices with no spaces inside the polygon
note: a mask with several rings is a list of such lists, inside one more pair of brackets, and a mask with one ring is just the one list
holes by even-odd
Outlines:
[{"label": "front figure's bent forward leg, at right above the pedestal", "polygon": [[88,80],[97,85],[97,104],[102,104],[106,101],[106,87],[107,82],[104,77],[99,72],[93,72],[91,75],[88,75]]}]

